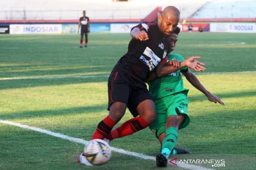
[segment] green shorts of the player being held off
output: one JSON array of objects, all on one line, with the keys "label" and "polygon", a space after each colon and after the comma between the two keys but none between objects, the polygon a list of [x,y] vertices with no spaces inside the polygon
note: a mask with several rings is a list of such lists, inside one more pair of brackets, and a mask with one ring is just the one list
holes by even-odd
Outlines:
[{"label": "green shorts of the player being held off", "polygon": [[157,115],[156,120],[149,125],[149,128],[157,138],[165,132],[166,120],[171,115],[186,115],[179,129],[183,129],[188,126],[191,118],[188,115],[187,93],[188,91],[183,91],[154,100]]}]

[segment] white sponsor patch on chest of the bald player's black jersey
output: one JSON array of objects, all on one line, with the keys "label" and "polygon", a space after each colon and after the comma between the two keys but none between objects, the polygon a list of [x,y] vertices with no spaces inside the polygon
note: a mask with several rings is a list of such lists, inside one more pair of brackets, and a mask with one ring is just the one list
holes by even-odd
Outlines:
[{"label": "white sponsor patch on chest of the bald player's black jersey", "polygon": [[156,67],[161,59],[150,48],[147,47],[140,56],[140,61],[147,64],[149,70],[151,71]]}]

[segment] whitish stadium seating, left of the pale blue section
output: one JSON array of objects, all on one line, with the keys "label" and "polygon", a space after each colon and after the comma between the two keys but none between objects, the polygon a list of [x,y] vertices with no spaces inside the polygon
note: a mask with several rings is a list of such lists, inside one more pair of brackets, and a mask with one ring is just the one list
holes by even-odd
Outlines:
[{"label": "whitish stadium seating, left of the pale blue section", "polygon": [[176,6],[181,18],[187,18],[205,3],[205,0],[8,0],[0,6],[0,20],[14,19],[77,19],[86,10],[91,19],[145,18],[156,7]]}]

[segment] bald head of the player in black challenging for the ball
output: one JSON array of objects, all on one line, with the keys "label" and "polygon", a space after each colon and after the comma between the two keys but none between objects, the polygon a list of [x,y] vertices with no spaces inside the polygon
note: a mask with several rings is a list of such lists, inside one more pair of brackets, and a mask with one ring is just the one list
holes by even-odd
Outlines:
[{"label": "bald head of the player in black challenging for the ball", "polygon": [[178,26],[180,20],[180,11],[174,6],[167,6],[159,15],[158,27],[164,37],[170,37],[172,32]]}]

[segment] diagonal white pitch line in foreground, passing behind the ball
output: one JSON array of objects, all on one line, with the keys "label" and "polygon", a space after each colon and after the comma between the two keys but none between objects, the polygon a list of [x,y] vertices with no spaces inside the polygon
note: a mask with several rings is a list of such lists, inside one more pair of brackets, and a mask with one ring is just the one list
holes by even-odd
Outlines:
[{"label": "diagonal white pitch line in foreground, passing behind the ball", "polygon": [[[76,143],[79,143],[79,144],[87,144],[89,142],[89,141],[86,141],[86,140],[83,140],[83,139],[79,139],[79,138],[75,138],[75,137],[69,137],[69,136],[66,136],[66,135],[63,135],[63,134],[60,134],[60,133],[51,132],[49,130],[35,128],[35,127],[28,126],[28,125],[23,125],[23,124],[20,124],[20,123],[10,122],[10,121],[6,121],[6,120],[1,120],[0,119],[0,123],[12,125],[12,126],[17,126],[17,127],[24,128],[24,129],[34,130],[34,131],[37,131],[37,132],[40,132],[40,133],[44,133],[44,134],[51,135],[51,136],[54,136],[54,137],[59,137],[59,138],[66,139],[66,140],[69,140],[71,142],[76,142]],[[148,155],[145,155],[145,154],[142,154],[142,153],[125,151],[123,149],[118,149],[118,148],[114,148],[114,147],[111,147],[111,150],[114,151],[114,152],[125,154],[125,155],[134,156],[134,157],[137,157],[137,158],[140,158],[140,159],[148,159],[148,160],[153,160],[153,161],[156,160],[155,157],[148,156]],[[171,165],[171,163],[169,163],[169,162],[168,162],[168,164]],[[191,164],[186,164],[186,163],[179,163],[179,161],[177,161],[176,164],[181,168],[186,168],[186,169],[191,169],[191,170],[211,170],[211,169],[208,169],[208,168],[204,168],[202,166],[196,166],[196,165],[191,165]]]}]

